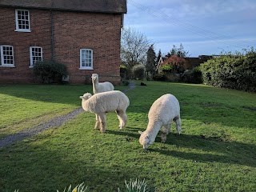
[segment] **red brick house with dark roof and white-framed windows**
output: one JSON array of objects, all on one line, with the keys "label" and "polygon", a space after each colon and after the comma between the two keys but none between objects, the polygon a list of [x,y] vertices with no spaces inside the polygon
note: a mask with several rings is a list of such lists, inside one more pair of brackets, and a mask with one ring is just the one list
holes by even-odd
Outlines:
[{"label": "red brick house with dark roof and white-framed windows", "polygon": [[34,62],[66,64],[70,83],[120,83],[126,0],[0,0],[0,83],[33,83]]}]

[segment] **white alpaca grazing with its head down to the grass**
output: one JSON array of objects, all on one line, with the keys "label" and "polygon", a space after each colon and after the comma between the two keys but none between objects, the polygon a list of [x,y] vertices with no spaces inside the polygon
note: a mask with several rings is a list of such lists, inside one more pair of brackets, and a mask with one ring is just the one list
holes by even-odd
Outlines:
[{"label": "white alpaca grazing with its head down to the grass", "polygon": [[164,94],[158,98],[150,107],[148,114],[149,123],[145,131],[138,131],[141,134],[139,143],[143,149],[147,149],[155,140],[158,131],[162,127],[162,142],[166,142],[166,135],[170,132],[171,122],[176,123],[176,130],[181,134],[181,118],[178,99],[172,94]]}]

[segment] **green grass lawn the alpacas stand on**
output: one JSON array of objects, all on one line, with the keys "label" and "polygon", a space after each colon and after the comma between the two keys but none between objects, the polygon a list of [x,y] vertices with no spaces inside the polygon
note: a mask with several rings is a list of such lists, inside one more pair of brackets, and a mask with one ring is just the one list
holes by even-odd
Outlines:
[{"label": "green grass lawn the alpacas stand on", "polygon": [[[136,82],[139,83],[140,82]],[[94,130],[94,114],[82,113],[0,149],[0,191],[63,191],[85,182],[90,191],[121,191],[125,180],[146,179],[156,191],[255,191],[256,94],[216,87],[146,82],[127,92],[128,123],[118,130],[106,115],[106,133]],[[116,87],[118,90],[126,87]],[[91,86],[0,86],[0,137],[30,128],[81,106]],[[171,93],[181,106],[182,134],[174,125],[143,150],[152,103]]]}]

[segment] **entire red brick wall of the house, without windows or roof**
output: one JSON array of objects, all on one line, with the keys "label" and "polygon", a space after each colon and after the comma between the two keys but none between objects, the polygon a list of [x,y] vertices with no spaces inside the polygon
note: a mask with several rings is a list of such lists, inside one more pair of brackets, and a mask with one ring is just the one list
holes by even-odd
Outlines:
[{"label": "entire red brick wall of the house, without windows or roof", "polygon": [[[70,83],[120,83],[121,15],[54,11],[54,58],[66,64]],[[30,33],[15,32],[15,9],[0,7],[0,45],[14,46],[14,68],[0,66],[0,83],[34,82],[30,46],[42,46],[43,59],[51,58],[51,15],[49,10],[30,10]],[[94,70],[79,70],[80,49],[94,51]]]}]

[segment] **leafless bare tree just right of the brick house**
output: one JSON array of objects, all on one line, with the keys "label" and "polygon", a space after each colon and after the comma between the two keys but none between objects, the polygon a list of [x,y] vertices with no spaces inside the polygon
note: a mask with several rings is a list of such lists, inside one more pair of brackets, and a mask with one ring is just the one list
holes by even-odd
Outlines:
[{"label": "leafless bare tree just right of the brick house", "polygon": [[132,28],[122,30],[121,34],[121,61],[126,66],[133,68],[138,64],[146,65],[146,52],[150,47],[150,41],[145,34]]}]

